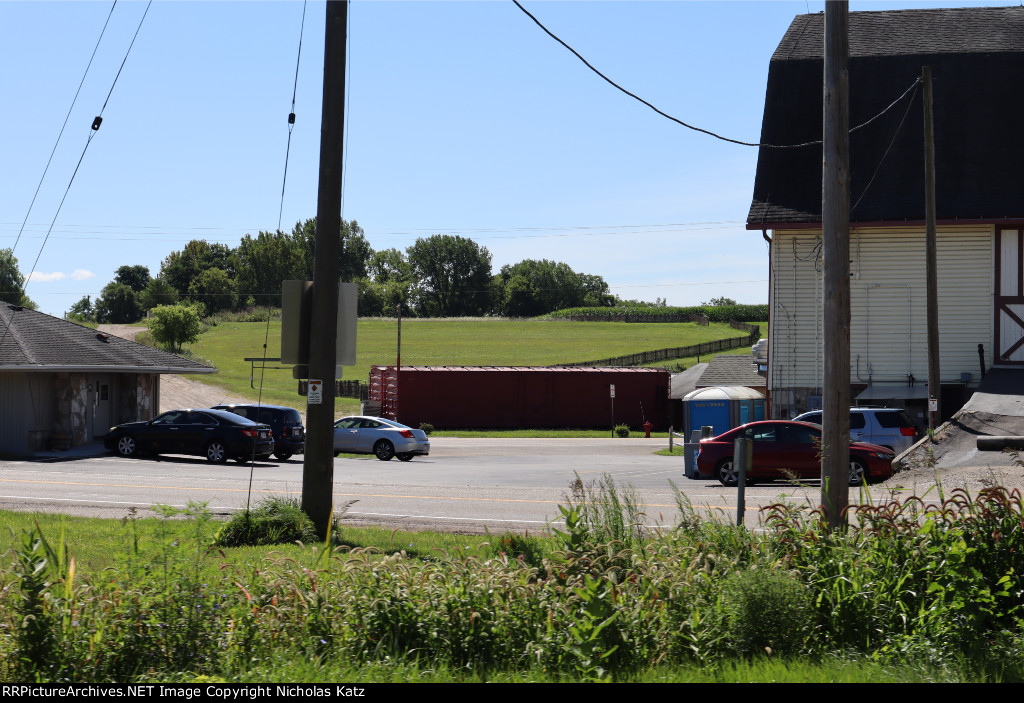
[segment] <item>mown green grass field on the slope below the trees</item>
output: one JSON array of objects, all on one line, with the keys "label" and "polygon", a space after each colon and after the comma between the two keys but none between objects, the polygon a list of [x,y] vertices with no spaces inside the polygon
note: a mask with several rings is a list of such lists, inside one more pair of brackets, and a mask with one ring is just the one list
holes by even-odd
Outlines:
[{"label": "mown green grass field on the slope below the trees", "polygon": [[[667,347],[683,347],[739,337],[728,324],[699,326],[693,322],[627,323],[508,320],[500,318],[406,319],[401,325],[402,365],[551,365],[607,358]],[[243,396],[256,398],[257,367],[250,385],[246,357],[281,355],[281,323],[222,322],[203,335],[191,352],[217,366],[219,372],[198,380]],[[367,381],[373,364],[394,363],[397,324],[393,319],[362,319],[358,325],[356,365],[344,378]],[[739,349],[737,351],[743,351]],[[749,353],[749,350],[746,350]],[[669,362],[665,362],[669,363]],[[264,402],[304,409],[290,369],[271,362],[263,371]],[[358,410],[358,401],[339,398],[339,415]]]}]

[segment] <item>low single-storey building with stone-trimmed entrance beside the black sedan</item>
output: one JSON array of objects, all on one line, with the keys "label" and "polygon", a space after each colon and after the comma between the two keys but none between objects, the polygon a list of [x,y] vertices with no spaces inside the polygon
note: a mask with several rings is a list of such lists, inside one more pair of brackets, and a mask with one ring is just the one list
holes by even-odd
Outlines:
[{"label": "low single-storey building with stone-trimmed entrance beside the black sedan", "polygon": [[98,439],[150,420],[162,374],[216,368],[69,320],[0,304],[0,451],[29,453]]}]

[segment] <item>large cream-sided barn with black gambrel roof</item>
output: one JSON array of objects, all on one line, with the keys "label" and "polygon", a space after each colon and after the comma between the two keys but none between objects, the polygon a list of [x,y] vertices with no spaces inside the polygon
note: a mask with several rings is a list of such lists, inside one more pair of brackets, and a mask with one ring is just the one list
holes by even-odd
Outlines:
[{"label": "large cream-sided barn with black gambrel roof", "polygon": [[[824,15],[772,55],[746,227],[770,243],[770,412],[820,403]],[[1024,7],[851,12],[850,378],[857,404],[926,418],[923,97],[933,76],[942,409],[986,364],[1024,367]],[[771,144],[774,146],[767,146]]]}]

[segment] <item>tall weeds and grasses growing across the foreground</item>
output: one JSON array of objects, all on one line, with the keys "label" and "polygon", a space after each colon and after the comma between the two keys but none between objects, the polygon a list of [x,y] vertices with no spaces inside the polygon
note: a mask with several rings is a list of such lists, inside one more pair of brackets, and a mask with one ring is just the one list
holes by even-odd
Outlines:
[{"label": "tall weeds and grasses growing across the foreground", "polygon": [[842,534],[785,506],[751,531],[682,498],[677,524],[646,530],[639,504],[607,477],[575,480],[547,536],[382,553],[348,528],[342,546],[245,560],[193,506],[157,529],[126,520],[106,568],[77,573],[65,535],[33,525],[0,569],[0,679],[678,680],[776,661],[1024,678],[1017,491],[855,507]]}]

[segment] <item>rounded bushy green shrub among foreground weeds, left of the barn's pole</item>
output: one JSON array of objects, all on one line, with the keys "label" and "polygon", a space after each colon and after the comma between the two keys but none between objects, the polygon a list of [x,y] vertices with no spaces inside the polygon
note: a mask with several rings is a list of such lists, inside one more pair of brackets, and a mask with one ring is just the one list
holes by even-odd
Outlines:
[{"label": "rounded bushy green shrub among foreground weeds, left of the barn's pole", "polygon": [[725,635],[742,654],[799,654],[811,627],[807,586],[785,571],[737,571],[722,586]]}]

